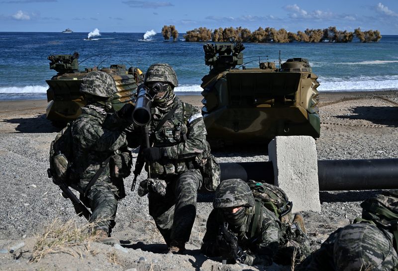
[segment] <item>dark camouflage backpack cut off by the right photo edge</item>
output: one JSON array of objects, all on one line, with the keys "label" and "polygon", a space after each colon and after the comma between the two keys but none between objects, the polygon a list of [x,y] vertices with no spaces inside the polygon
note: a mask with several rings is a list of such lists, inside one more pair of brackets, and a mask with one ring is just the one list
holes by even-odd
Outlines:
[{"label": "dark camouflage backpack cut off by the right photo edge", "polygon": [[374,194],[361,203],[362,218],[354,223],[368,222],[394,235],[394,247],[398,248],[398,189]]}]

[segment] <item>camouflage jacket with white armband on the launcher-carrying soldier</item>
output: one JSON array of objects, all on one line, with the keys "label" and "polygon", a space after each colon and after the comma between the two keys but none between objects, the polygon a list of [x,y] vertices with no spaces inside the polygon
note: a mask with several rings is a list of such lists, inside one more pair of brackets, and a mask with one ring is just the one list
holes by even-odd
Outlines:
[{"label": "camouflage jacket with white armband on the launcher-carrying soldier", "polygon": [[[152,163],[151,176],[170,176],[183,173],[189,162],[207,148],[206,128],[200,111],[190,104],[182,102],[177,96],[172,108],[177,109],[161,127],[156,127],[167,112],[157,107],[151,108],[152,119],[149,123],[150,141],[153,147],[164,149],[164,158]],[[191,110],[188,110],[192,108]],[[146,167],[148,170],[148,167]]]}]

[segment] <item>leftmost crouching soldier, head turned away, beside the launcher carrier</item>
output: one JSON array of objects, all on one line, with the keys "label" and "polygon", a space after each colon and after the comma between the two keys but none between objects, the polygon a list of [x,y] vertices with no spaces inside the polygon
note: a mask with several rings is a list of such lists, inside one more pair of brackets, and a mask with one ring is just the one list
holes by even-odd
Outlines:
[{"label": "leftmost crouching soldier, head turned away, beside the launcher carrier", "polygon": [[80,91],[88,104],[72,123],[71,175],[82,191],[81,198],[92,210],[93,233],[100,242],[112,245],[119,243],[110,237],[110,232],[114,227],[117,200],[125,196],[123,178],[128,176],[131,167],[124,132],[129,123],[116,113],[109,113],[116,92],[110,75],[99,71],[89,73],[83,78]]}]

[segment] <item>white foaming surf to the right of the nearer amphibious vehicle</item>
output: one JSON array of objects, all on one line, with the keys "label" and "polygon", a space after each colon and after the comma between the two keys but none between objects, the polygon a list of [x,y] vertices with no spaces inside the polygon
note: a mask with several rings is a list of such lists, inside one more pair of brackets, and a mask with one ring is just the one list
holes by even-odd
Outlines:
[{"label": "white foaming surf to the right of the nearer amphibious vehicle", "polygon": [[319,91],[348,90],[398,90],[398,76],[357,77],[357,78],[319,78]]}]

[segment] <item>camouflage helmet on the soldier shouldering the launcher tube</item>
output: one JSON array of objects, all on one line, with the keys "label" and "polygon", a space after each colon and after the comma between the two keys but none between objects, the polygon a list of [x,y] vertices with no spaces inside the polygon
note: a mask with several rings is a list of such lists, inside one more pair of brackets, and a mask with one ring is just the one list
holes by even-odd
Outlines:
[{"label": "camouflage helmet on the soldier shouldering the launcher tube", "polygon": [[173,86],[178,86],[176,72],[169,64],[156,63],[149,66],[145,74],[145,83],[149,82],[167,82]]}]

